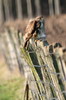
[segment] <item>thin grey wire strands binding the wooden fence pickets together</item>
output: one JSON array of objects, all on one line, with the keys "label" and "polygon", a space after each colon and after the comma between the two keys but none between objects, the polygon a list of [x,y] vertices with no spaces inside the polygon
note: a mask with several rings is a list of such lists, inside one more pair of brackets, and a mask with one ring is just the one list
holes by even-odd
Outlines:
[{"label": "thin grey wire strands binding the wooden fence pickets together", "polygon": [[[9,43],[9,42],[8,42]],[[15,45],[17,45],[17,43],[15,43]],[[18,45],[17,45],[18,46]],[[28,53],[36,53],[36,51],[39,51],[39,49],[41,49],[41,48],[37,48],[37,49],[35,49],[34,51],[26,51],[26,52],[28,52]],[[14,51],[11,51],[11,52],[14,52]],[[50,56],[50,55],[52,55],[52,54],[55,54],[55,53],[48,53],[47,55],[44,55],[44,57],[48,57],[48,56]],[[23,57],[23,56],[20,56],[20,58],[21,57]],[[11,60],[11,58],[8,58],[9,60]],[[15,58],[12,58],[12,59],[16,59],[16,57]],[[9,63],[10,65],[11,65],[11,63]],[[14,66],[16,66],[15,64],[12,64],[12,65],[14,65]],[[27,67],[27,66],[24,66],[24,67]],[[48,73],[51,73],[51,74],[54,74],[54,75],[56,75],[56,76],[58,76],[60,79],[62,79],[62,81],[65,81],[66,82],[66,78],[64,78],[63,79],[63,77],[62,77],[62,75],[61,75],[61,73],[60,72],[58,72],[58,73],[56,73],[56,72],[53,72],[53,71],[51,71],[50,69],[49,69],[49,67],[48,67],[48,65],[47,64],[44,64],[44,65],[33,65],[32,67],[47,67],[47,72]],[[29,71],[27,71],[27,72],[29,72]],[[54,85],[53,85],[53,83],[52,82],[44,82],[44,81],[42,81],[42,80],[39,80],[39,81],[35,81],[35,80],[30,80],[30,82],[36,82],[36,83],[38,83],[38,82],[41,82],[41,83],[43,83],[43,84],[45,84],[45,85],[51,85],[54,89],[55,89],[55,91],[57,91],[58,93],[60,93],[60,94],[66,94],[66,90],[64,90],[64,91],[58,91],[55,87],[54,87]],[[34,90],[32,90],[32,89],[30,89],[31,90],[31,92],[33,93],[38,93],[38,91],[34,91]],[[40,96],[46,96],[44,93],[38,93]],[[49,100],[58,100],[58,98],[49,98]]]}]

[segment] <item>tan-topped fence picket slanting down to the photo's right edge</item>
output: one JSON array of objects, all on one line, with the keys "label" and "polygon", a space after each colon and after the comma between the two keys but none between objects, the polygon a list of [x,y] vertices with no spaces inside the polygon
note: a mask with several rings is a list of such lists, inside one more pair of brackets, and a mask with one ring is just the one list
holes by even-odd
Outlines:
[{"label": "tan-topped fence picket slanting down to the photo's right edge", "polygon": [[[62,49],[63,48],[55,48],[55,57],[56,57],[56,61],[57,61],[57,64],[58,64],[58,69],[59,69],[59,78],[61,79],[62,81],[62,84],[64,86],[64,89],[66,89],[66,82],[65,82],[65,76],[66,76],[66,66],[65,66],[65,63],[64,63],[64,60],[63,60],[63,52],[62,52]],[[64,81],[63,81],[64,80]]]}]

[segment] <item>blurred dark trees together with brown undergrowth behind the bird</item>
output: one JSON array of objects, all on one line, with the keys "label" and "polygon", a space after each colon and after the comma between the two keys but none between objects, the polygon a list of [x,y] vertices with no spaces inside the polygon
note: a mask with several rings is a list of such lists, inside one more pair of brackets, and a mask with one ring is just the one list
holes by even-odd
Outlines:
[{"label": "blurred dark trees together with brown undergrowth behind the bird", "polygon": [[43,15],[49,41],[54,42],[56,36],[56,41],[60,41],[65,46],[65,14],[66,0],[0,0],[0,30],[6,24],[24,33],[30,18]]}]

